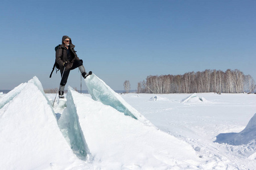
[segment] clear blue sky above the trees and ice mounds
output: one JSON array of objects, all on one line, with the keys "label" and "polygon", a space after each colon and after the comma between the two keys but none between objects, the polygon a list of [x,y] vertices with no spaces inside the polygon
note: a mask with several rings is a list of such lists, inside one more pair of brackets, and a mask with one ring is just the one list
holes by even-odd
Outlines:
[{"label": "clear blue sky above the trees and ice mounds", "polygon": [[[45,89],[59,87],[60,74],[49,74],[63,35],[86,71],[113,90],[205,69],[239,69],[256,80],[256,1],[3,0],[0,14],[2,90],[33,76]],[[67,85],[80,89],[78,69]]]}]

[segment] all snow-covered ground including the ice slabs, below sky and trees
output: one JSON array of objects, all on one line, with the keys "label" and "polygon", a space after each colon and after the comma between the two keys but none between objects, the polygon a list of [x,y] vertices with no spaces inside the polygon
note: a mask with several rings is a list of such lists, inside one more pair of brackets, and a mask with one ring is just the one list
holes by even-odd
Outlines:
[{"label": "all snow-covered ground including the ice slabs, below sky and trees", "polygon": [[86,81],[91,95],[69,87],[53,107],[36,77],[0,92],[1,169],[255,169],[256,95],[118,95]]}]

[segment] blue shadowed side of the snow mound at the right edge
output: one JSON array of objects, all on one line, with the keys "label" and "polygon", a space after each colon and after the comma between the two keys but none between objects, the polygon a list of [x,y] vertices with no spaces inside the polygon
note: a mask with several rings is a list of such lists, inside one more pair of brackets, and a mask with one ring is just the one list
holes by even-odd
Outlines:
[{"label": "blue shadowed side of the snow mound at the right edge", "polygon": [[229,145],[246,145],[253,140],[256,140],[256,113],[240,133],[218,134],[214,142],[227,143]]}]

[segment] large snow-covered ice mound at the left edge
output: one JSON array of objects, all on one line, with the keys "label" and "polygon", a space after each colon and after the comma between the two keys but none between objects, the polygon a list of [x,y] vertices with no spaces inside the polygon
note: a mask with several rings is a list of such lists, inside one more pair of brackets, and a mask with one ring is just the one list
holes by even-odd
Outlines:
[{"label": "large snow-covered ice mound at the left edge", "polygon": [[73,154],[38,78],[1,100],[1,169],[71,169],[85,163]]}]

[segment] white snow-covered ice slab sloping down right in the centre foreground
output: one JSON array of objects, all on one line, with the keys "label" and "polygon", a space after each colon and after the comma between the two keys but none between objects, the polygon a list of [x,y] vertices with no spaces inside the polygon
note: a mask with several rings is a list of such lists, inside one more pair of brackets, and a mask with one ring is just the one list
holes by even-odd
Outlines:
[{"label": "white snow-covered ice slab sloping down right in the centre foreground", "polygon": [[[184,141],[125,116],[71,87],[67,99],[67,108],[72,105],[72,109],[63,112],[59,124],[79,123],[77,130],[86,142],[82,145],[88,147],[95,169],[197,169],[200,158]],[[70,120],[70,117],[77,119]]]}]

